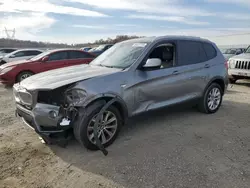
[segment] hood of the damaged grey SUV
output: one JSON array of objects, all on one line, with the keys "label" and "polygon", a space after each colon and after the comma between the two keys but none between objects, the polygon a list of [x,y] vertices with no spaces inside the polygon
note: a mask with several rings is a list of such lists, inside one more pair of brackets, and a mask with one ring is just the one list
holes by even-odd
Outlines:
[{"label": "hood of the damaged grey SUV", "polygon": [[100,66],[76,65],[33,75],[23,80],[20,85],[28,90],[55,89],[77,81],[119,71],[121,70]]}]

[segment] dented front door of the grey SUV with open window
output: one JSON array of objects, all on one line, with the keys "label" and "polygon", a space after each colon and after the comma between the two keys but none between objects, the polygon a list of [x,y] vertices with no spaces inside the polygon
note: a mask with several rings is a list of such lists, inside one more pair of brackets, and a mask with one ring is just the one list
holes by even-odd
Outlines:
[{"label": "dented front door of the grey SUV with open window", "polygon": [[135,108],[132,114],[157,109],[178,102],[183,92],[183,78],[178,72],[176,42],[156,44],[146,56],[160,59],[162,65],[154,69],[135,71]]}]

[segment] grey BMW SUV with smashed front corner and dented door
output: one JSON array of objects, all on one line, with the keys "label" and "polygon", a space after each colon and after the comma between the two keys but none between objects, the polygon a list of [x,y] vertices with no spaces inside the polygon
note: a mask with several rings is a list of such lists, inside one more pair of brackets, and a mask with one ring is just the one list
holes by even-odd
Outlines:
[{"label": "grey BMW SUV with smashed front corner and dented door", "polygon": [[73,130],[94,150],[95,138],[109,146],[129,117],[145,111],[194,101],[202,112],[215,113],[227,85],[227,64],[214,43],[164,36],[120,42],[89,65],[31,76],[14,85],[14,97],[16,113],[39,135]]}]

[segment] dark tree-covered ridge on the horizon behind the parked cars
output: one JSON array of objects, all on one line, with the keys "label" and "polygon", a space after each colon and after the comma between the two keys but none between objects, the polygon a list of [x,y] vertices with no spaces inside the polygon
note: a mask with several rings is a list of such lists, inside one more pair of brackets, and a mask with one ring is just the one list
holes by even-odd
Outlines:
[{"label": "dark tree-covered ridge on the horizon behind the parked cars", "polygon": [[29,40],[17,40],[0,38],[0,48],[12,47],[12,48],[80,48],[84,46],[96,46],[100,44],[115,44],[117,42],[125,41],[128,39],[139,38],[138,36],[117,35],[115,38],[107,38],[96,40],[93,43],[81,43],[81,44],[64,44],[64,43],[50,43],[50,42],[36,42]]}]

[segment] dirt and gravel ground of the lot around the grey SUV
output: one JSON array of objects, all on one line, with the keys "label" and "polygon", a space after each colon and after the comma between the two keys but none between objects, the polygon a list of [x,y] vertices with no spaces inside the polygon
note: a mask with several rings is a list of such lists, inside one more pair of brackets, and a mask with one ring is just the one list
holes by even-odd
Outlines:
[{"label": "dirt and gravel ground of the lot around the grey SUV", "polygon": [[123,128],[109,155],[43,145],[0,86],[0,187],[250,187],[250,84],[229,88],[218,113],[178,107]]}]

